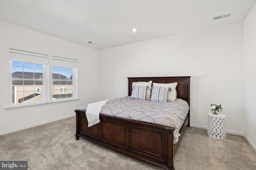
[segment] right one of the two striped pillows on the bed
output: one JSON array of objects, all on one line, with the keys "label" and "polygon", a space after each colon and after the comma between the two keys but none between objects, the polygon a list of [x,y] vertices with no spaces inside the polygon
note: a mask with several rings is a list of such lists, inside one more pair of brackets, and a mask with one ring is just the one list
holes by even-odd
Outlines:
[{"label": "right one of the two striped pillows on the bed", "polygon": [[167,102],[167,95],[170,90],[170,87],[153,86],[151,100],[156,102]]}]

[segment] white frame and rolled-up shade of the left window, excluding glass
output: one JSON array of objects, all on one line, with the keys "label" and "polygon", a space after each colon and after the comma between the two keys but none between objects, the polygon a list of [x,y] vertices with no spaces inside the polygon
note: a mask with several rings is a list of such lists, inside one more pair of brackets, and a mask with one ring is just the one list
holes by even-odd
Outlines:
[{"label": "white frame and rolled-up shade of the left window, excluding glass", "polygon": [[[43,64],[43,77],[40,79],[36,78],[12,78],[12,61],[17,62],[24,62],[24,63],[35,63],[35,64]],[[39,54],[39,53],[32,53],[28,51],[21,51],[16,49],[10,49],[10,107],[15,106],[30,106],[34,104],[43,104],[47,102],[47,84],[48,81],[46,79],[47,75],[47,62],[48,62],[48,55]],[[21,103],[12,103],[12,80],[42,80],[43,81],[43,100],[34,101],[34,102],[21,102]],[[34,89],[34,92],[37,90]],[[24,89],[23,89],[24,93]],[[23,95],[24,97],[24,95]]]}]

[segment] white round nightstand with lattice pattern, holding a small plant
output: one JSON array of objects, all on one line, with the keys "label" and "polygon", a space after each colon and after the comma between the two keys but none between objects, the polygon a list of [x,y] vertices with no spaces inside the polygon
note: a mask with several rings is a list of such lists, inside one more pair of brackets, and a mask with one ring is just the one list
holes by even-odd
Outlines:
[{"label": "white round nightstand with lattice pattern, holding a small plant", "polygon": [[209,137],[215,139],[226,139],[226,115],[218,113],[214,115],[208,113],[208,130]]}]

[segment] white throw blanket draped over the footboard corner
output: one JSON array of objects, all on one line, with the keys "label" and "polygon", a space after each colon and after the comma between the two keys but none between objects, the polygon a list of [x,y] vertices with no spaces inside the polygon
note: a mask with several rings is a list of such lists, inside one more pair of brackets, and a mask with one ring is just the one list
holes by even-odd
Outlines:
[{"label": "white throw blanket draped over the footboard corner", "polygon": [[91,127],[97,123],[100,123],[100,110],[104,104],[108,102],[107,100],[103,100],[96,103],[90,103],[86,109],[86,117],[88,120],[88,127]]}]

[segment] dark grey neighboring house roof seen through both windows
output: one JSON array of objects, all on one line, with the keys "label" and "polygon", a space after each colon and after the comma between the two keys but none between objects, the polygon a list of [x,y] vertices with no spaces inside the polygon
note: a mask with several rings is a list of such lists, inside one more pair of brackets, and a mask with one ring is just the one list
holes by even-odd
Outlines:
[{"label": "dark grey neighboring house roof seen through both windows", "polygon": [[[12,78],[22,78],[23,72],[13,72]],[[26,75],[26,76],[25,76]],[[43,82],[40,81],[40,77],[42,76],[42,73],[35,72],[35,78],[38,78],[39,81],[35,82],[35,85],[43,85]],[[33,72],[24,72],[24,77],[26,78],[34,78]],[[52,74],[53,84],[58,85],[58,79],[60,80],[70,80],[72,79],[72,76],[68,79],[66,76],[63,76],[61,74]],[[57,80],[56,80],[57,79]],[[60,81],[61,85],[66,85],[66,82]],[[68,81],[67,84],[72,84],[71,81]],[[23,81],[21,80],[12,80],[12,85],[23,85]],[[25,81],[24,85],[34,85],[34,81]]]}]

